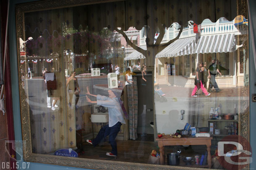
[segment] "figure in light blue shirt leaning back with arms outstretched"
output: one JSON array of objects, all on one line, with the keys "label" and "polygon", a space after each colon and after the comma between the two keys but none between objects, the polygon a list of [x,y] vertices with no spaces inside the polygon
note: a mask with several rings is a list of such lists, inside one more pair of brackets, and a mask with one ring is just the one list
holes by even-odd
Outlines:
[{"label": "figure in light blue shirt leaning back with arms outstretched", "polygon": [[109,136],[109,142],[112,147],[112,151],[107,152],[106,155],[116,157],[118,155],[118,149],[117,143],[115,142],[115,138],[118,135],[118,132],[120,131],[122,123],[125,124],[123,110],[120,106],[117,97],[118,95],[111,90],[108,91],[108,96],[102,96],[99,94],[94,95],[90,93],[88,87],[86,94],[97,98],[97,101],[91,101],[91,99],[89,99],[89,97],[86,96],[86,100],[89,103],[94,103],[103,107],[107,107],[109,115],[109,124],[105,125],[99,130],[99,133],[97,134],[97,137],[95,139],[86,140],[86,142],[90,143],[95,147],[99,144],[102,138]]}]

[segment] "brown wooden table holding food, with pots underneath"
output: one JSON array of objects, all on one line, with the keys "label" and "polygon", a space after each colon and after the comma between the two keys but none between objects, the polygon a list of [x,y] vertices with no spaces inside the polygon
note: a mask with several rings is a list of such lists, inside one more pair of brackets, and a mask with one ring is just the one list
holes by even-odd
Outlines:
[{"label": "brown wooden table holding food, with pots underneath", "polygon": [[163,136],[156,139],[158,141],[160,152],[160,164],[165,164],[164,147],[170,145],[206,145],[207,147],[207,163],[208,167],[212,167],[211,145],[212,137],[181,137],[171,138],[170,136]]}]

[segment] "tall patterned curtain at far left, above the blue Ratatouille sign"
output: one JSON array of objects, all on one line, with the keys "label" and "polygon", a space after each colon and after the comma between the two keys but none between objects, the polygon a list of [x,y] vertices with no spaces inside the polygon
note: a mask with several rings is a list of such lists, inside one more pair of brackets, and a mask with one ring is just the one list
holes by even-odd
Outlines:
[{"label": "tall patterned curtain at far left, above the blue Ratatouille sign", "polygon": [[[24,41],[33,38],[26,42],[26,65],[31,63],[31,59],[37,59],[38,72],[41,72],[41,68],[47,68],[48,71],[55,68],[57,89],[54,90],[54,97],[58,98],[59,106],[58,110],[47,108],[44,79],[33,81],[36,86],[30,84],[30,81],[25,82],[29,97],[33,153],[46,154],[60,148],[76,147],[75,108],[66,105],[65,68],[69,62],[68,57],[63,55],[64,50],[73,51],[73,35],[68,34],[70,28],[73,28],[72,13],[72,10],[65,8],[25,14]],[[53,97],[50,99],[51,106],[52,100]]]}]

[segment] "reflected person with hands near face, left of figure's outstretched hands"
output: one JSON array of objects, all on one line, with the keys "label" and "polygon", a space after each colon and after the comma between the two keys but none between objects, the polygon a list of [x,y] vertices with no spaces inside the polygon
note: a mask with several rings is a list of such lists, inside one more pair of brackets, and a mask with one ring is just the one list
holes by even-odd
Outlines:
[{"label": "reflected person with hands near face, left of figure's outstretched hands", "polygon": [[68,88],[68,94],[69,94],[68,105],[69,105],[69,107],[72,107],[73,94],[75,94],[75,96],[76,96],[75,107],[77,109],[78,108],[77,103],[78,103],[78,100],[79,100],[80,88],[79,88],[79,85],[78,85],[78,81],[77,81],[77,78],[76,78],[76,72],[75,71],[73,71],[71,73],[71,76],[68,78],[67,88]]}]

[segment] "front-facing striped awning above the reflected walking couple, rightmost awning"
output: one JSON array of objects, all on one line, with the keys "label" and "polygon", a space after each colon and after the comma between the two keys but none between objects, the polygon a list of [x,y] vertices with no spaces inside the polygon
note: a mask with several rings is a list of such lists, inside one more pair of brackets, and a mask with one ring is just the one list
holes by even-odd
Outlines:
[{"label": "front-facing striped awning above the reflected walking couple, rightmost awning", "polygon": [[201,36],[194,53],[227,53],[235,51],[235,34]]}]

